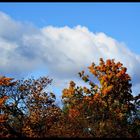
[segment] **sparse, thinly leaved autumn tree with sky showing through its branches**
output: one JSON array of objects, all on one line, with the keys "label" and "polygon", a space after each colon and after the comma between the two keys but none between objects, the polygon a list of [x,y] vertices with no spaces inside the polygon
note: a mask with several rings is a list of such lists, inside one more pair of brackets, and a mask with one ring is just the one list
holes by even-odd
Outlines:
[{"label": "sparse, thinly leaved autumn tree with sky showing through its branches", "polygon": [[17,137],[43,137],[54,123],[52,118],[57,120],[55,95],[47,91],[51,82],[48,77],[41,77],[17,80],[14,86],[1,84],[0,95],[8,97],[3,108],[8,116],[6,126]]}]

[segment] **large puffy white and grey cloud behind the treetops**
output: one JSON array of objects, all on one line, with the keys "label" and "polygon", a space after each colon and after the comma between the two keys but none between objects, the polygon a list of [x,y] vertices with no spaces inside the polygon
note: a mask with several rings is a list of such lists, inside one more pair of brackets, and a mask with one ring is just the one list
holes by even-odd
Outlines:
[{"label": "large puffy white and grey cloud behind the treetops", "polygon": [[92,62],[98,64],[100,57],[122,62],[134,85],[139,84],[140,55],[105,33],[93,33],[80,25],[38,28],[0,12],[0,73],[3,75],[26,75],[46,69],[57,86],[62,86],[60,83],[66,86]]}]

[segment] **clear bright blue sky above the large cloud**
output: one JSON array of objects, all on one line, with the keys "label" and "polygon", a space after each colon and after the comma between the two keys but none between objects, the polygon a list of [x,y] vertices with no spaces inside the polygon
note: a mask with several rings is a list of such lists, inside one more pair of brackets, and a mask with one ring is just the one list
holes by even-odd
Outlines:
[{"label": "clear bright blue sky above the large cloud", "polygon": [[140,53],[140,3],[0,3],[0,10],[35,26],[87,26],[124,41]]}]

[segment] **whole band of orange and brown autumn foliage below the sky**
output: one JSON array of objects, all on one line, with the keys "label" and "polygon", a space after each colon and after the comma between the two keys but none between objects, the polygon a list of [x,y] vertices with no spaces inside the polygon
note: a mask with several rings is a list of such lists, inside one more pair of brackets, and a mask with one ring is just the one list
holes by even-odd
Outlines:
[{"label": "whole band of orange and brown autumn foliage below the sky", "polygon": [[48,77],[0,77],[0,137],[139,138],[140,95],[132,95],[127,68],[101,58],[88,69],[78,73],[85,86],[70,81],[62,91],[62,109]]}]

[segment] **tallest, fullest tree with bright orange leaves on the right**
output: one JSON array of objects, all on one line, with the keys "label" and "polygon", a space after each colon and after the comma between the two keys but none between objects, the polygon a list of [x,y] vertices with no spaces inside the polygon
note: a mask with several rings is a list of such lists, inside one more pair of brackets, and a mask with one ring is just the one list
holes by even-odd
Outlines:
[{"label": "tallest, fullest tree with bright orange leaves on the right", "polygon": [[[135,110],[131,94],[131,78],[122,63],[100,59],[96,66],[88,67],[90,75],[84,71],[79,76],[90,88],[76,86],[71,81],[63,90],[64,111],[71,120],[81,122],[92,137],[131,137],[128,120]],[[93,79],[98,82],[93,82]]]}]

